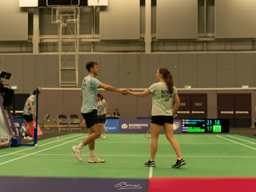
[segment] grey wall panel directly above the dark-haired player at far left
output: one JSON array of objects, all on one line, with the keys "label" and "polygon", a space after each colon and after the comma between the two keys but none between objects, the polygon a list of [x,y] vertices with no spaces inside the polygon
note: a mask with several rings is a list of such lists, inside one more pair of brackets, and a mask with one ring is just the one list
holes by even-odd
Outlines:
[{"label": "grey wall panel directly above the dark-haired player at far left", "polygon": [[35,88],[35,55],[24,55],[24,90]]}]

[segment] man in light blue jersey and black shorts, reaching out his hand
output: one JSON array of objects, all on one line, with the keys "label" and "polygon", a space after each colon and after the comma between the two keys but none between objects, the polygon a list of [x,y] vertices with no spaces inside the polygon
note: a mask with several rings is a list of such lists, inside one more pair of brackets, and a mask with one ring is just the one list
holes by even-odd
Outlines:
[{"label": "man in light blue jersey and black shorts, reaching out his hand", "polygon": [[88,162],[103,163],[105,162],[105,160],[101,160],[94,153],[95,139],[97,139],[101,135],[100,121],[97,116],[97,89],[103,88],[107,91],[114,92],[122,92],[123,90],[112,87],[107,84],[103,84],[95,78],[95,76],[98,75],[100,70],[98,67],[98,63],[89,61],[86,64],[85,68],[88,70],[89,75],[84,78],[81,86],[80,96],[83,100],[81,113],[85,119],[89,135],[85,137],[82,143],[80,143],[77,146],[73,146],[72,151],[75,153],[75,156],[78,159],[78,161],[83,161],[81,158],[81,152],[83,147],[85,145],[88,145],[90,151],[90,157]]}]

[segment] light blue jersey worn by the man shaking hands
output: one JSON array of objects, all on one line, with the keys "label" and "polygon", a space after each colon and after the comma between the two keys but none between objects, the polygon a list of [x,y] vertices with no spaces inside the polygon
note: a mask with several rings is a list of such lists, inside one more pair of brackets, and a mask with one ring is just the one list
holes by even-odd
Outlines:
[{"label": "light blue jersey worn by the man shaking hands", "polygon": [[101,82],[91,75],[84,78],[81,86],[83,94],[83,105],[81,113],[90,113],[92,110],[97,110],[97,89]]}]

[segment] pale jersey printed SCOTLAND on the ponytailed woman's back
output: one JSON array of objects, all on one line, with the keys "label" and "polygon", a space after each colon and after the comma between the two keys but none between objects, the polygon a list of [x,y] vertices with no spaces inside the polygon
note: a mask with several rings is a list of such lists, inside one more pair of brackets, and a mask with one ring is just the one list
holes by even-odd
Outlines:
[{"label": "pale jersey printed SCOTLAND on the ponytailed woman's back", "polygon": [[167,84],[160,81],[152,84],[148,90],[152,93],[152,116],[172,116],[172,97],[178,93],[176,88],[172,93]]}]

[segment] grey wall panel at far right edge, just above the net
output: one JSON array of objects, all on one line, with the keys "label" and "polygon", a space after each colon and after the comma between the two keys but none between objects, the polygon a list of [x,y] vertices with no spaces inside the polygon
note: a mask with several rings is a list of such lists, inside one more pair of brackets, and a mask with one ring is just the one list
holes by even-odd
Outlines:
[{"label": "grey wall panel at far right edge, just above the net", "polygon": [[235,52],[236,85],[254,85],[254,52]]}]

